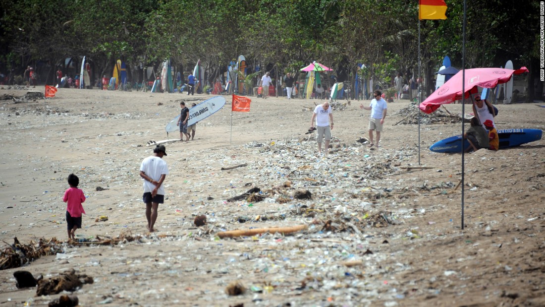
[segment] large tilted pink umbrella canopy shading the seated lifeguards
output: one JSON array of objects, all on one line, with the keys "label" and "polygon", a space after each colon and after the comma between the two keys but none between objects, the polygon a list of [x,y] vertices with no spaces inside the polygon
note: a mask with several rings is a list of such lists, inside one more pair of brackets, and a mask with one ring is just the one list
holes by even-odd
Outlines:
[{"label": "large tilted pink umbrella canopy shading the seated lifeguards", "polygon": [[[462,70],[454,75],[449,81],[439,87],[420,104],[420,110],[424,113],[431,113],[443,104],[450,104],[462,99]],[[502,69],[502,68],[472,68],[465,70],[464,97],[477,93],[477,86],[494,88],[500,83],[511,80],[511,76],[528,73],[528,69]]]}]

